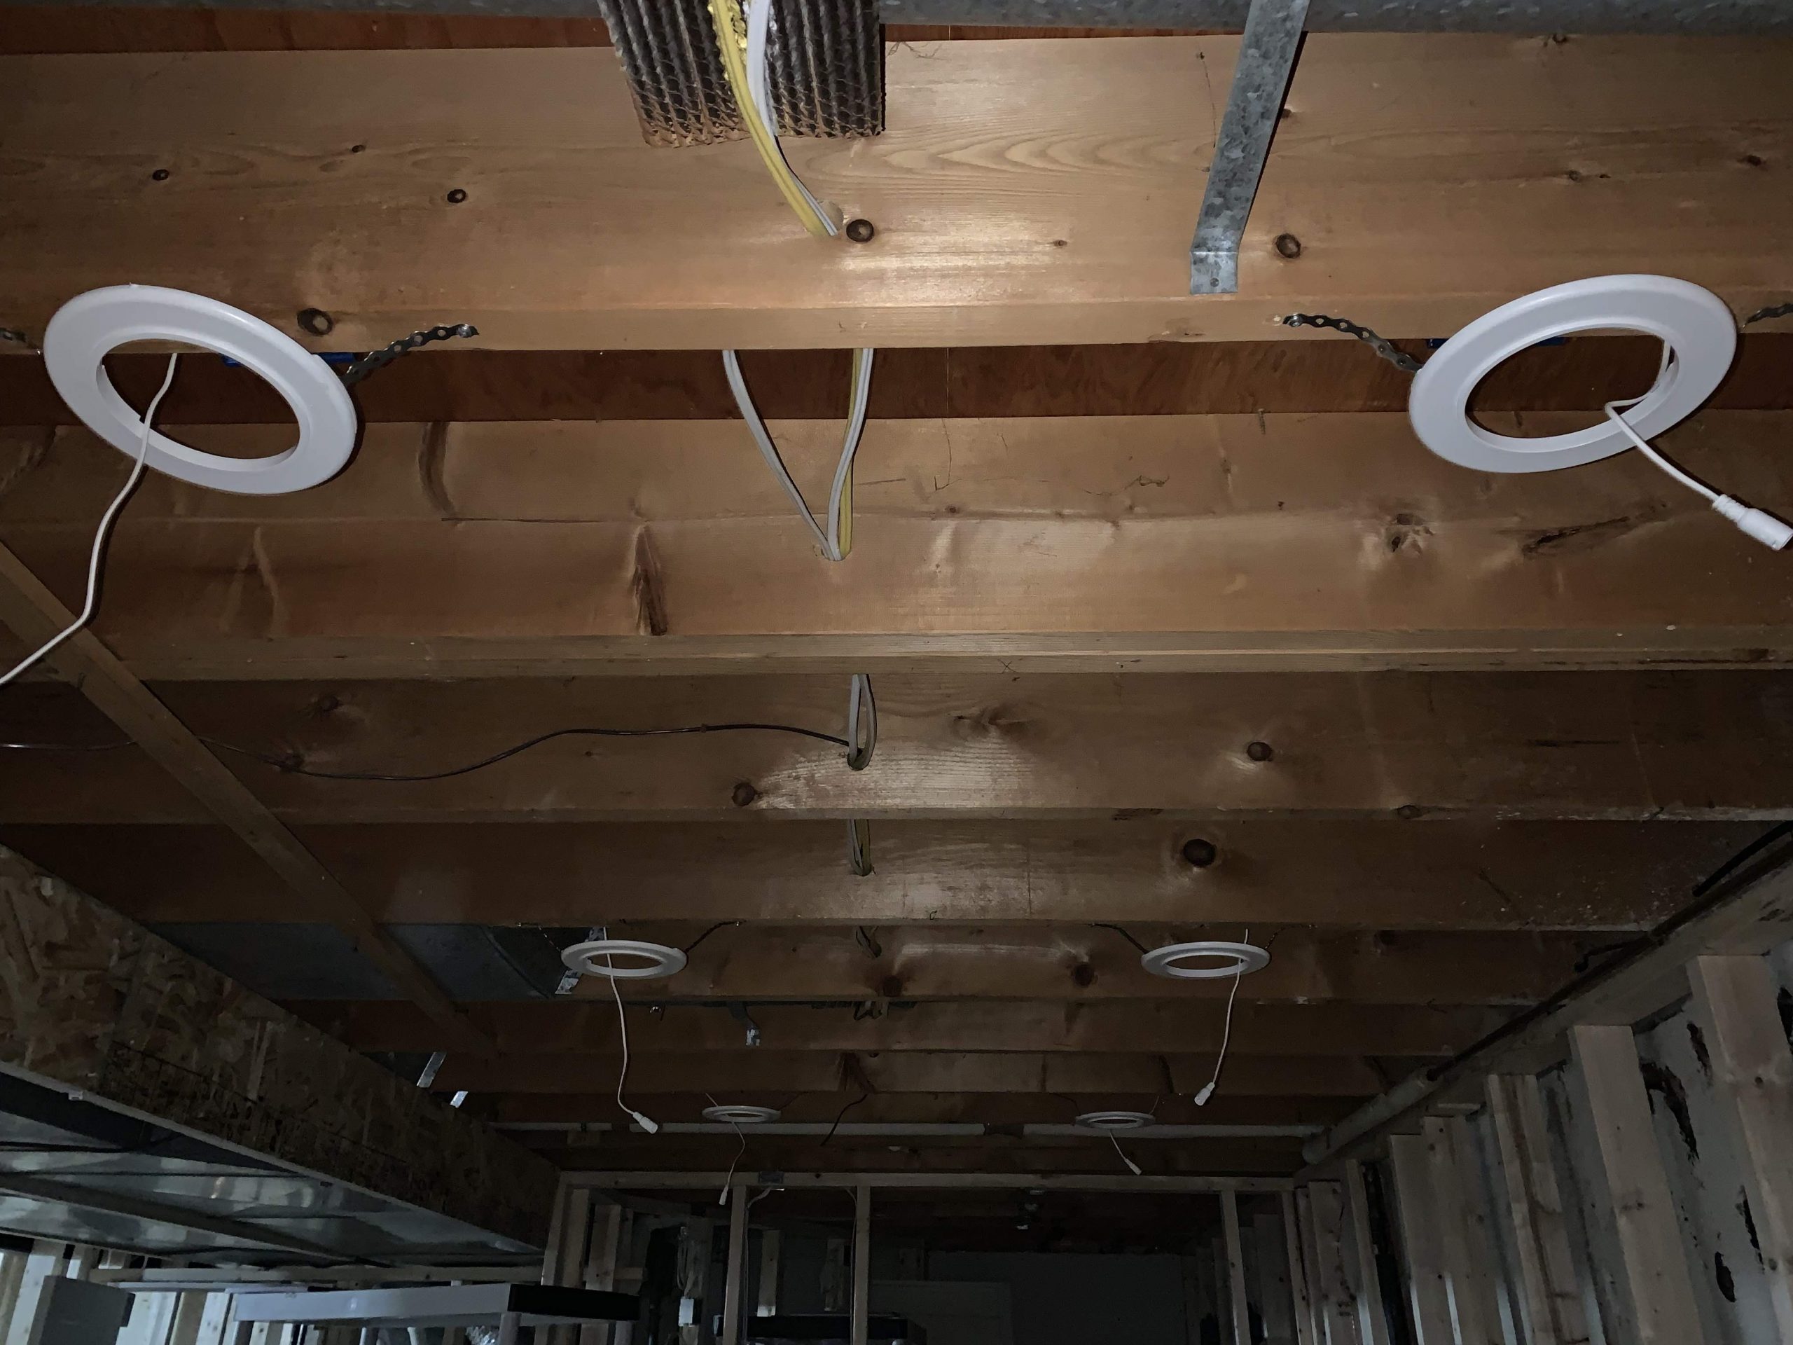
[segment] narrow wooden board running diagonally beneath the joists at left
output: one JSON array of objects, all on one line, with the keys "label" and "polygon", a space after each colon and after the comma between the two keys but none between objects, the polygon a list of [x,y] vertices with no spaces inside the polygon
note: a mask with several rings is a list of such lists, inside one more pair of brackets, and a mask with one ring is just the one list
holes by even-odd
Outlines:
[{"label": "narrow wooden board running diagonally beneath the joists at left", "polygon": [[[74,622],[74,613],[5,545],[0,545],[0,620],[32,646]],[[429,972],[380,929],[348,888],[104,644],[88,631],[77,631],[48,658],[136,742],[136,751],[160,768],[158,773],[174,777],[188,807],[224,823],[260,855],[289,888],[289,904],[296,897],[341,929],[357,952],[430,1017],[443,1040],[464,1051],[486,1049],[486,1042]]]}]

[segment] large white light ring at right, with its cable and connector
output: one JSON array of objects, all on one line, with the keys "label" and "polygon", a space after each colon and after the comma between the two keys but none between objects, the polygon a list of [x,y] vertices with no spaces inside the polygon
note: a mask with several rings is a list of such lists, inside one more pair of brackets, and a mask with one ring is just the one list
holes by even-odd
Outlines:
[{"label": "large white light ring at right, with its cable and connector", "polygon": [[[1495,434],[1470,420],[1470,396],[1503,360],[1540,341],[1614,328],[1662,341],[1662,366],[1648,393],[1608,402],[1605,423],[1524,439]],[[1420,443],[1477,472],[1555,472],[1637,448],[1743,533],[1780,551],[1793,540],[1793,527],[1711,490],[1648,443],[1700,409],[1725,378],[1736,351],[1736,317],[1723,299],[1700,285],[1641,274],[1572,280],[1504,303],[1440,346],[1413,377],[1408,418]]]}]

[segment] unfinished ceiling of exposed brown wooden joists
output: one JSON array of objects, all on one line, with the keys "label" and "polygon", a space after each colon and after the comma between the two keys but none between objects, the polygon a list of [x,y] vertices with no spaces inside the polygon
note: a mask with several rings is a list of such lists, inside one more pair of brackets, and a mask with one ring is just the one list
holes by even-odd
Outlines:
[{"label": "unfinished ceiling of exposed brown wooden joists", "polygon": [[[599,23],[495,27],[595,7],[353,7],[389,13],[7,11],[32,18],[0,48],[65,54],[0,56],[30,187],[0,201],[0,326],[41,334],[131,237],[145,278],[316,350],[481,337],[357,384],[357,456],[317,490],[145,482],[93,628],[122,672],[0,690],[0,742],[27,744],[0,748],[0,843],[385,1083],[464,1092],[565,1169],[1280,1178],[1793,818],[1784,560],[1632,454],[1443,463],[1406,368],[1273,325],[1352,317],[1411,366],[1592,265],[1685,274],[1745,335],[1664,448],[1786,513],[1793,5],[1316,4],[1239,292],[1200,299],[1232,36],[891,43],[880,136],[785,143],[875,224],[823,251],[744,143],[642,143],[615,57],[554,50]],[[1210,30],[1244,5],[882,13]],[[1662,36],[1499,36],[1553,30]],[[812,486],[846,341],[879,355],[830,565],[715,348]],[[1477,414],[1587,425],[1657,359],[1531,350]],[[142,405],[163,362],[113,368]],[[122,461],[23,348],[0,407],[0,540],[77,604]],[[206,357],[163,416],[238,456],[283,418]],[[95,703],[97,669],[190,732],[185,764]],[[855,672],[862,771],[827,741]],[[588,733],[706,725],[773,728]],[[296,891],[273,834],[323,879]],[[620,986],[626,1080],[610,985],[559,963],[593,929],[689,958]],[[1232,1019],[1232,983],[1142,968],[1187,940],[1269,950]],[[742,1151],[699,1128],[715,1103],[780,1130]],[[1124,1155],[1067,1130],[1099,1110],[1155,1128]],[[1121,1198],[1045,1209],[1085,1250],[1178,1241]],[[1017,1241],[1011,1193],[950,1210],[966,1248]]]}]

